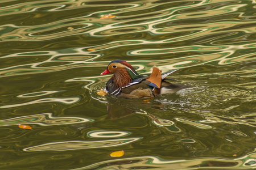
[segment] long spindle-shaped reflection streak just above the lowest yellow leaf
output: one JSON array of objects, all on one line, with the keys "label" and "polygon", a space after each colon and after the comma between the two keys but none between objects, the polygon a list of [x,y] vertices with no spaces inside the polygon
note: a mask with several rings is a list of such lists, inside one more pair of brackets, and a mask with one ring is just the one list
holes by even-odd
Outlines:
[{"label": "long spindle-shaped reflection streak just above the lowest yellow leaf", "polygon": [[23,151],[69,151],[69,150],[82,150],[90,148],[102,147],[115,147],[127,145],[131,142],[138,141],[141,138],[123,138],[111,139],[105,141],[64,141],[64,142],[51,142],[43,145],[32,146],[24,148]]}]

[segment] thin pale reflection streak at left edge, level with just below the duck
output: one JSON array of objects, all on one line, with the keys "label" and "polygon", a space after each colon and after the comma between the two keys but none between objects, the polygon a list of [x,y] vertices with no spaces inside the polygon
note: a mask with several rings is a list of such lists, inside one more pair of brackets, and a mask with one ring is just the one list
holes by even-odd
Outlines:
[{"label": "thin pale reflection streak at left edge, level with just below the duck", "polygon": [[79,100],[80,100],[80,97],[44,98],[44,99],[38,99],[38,100],[30,101],[30,102],[27,102],[27,103],[2,105],[2,106],[0,106],[0,109],[14,108],[14,107],[20,107],[20,106],[24,106],[24,105],[30,105],[30,104],[36,104],[36,103],[47,103],[47,102],[58,102],[58,103],[63,103],[63,104],[74,104]]}]

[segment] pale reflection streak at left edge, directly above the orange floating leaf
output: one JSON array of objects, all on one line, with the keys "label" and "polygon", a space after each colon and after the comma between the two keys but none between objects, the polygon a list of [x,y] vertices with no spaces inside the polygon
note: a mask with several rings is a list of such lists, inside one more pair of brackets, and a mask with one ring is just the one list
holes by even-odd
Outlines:
[{"label": "pale reflection streak at left edge, directly above the orange floating leaf", "polygon": [[94,121],[82,117],[53,117],[52,113],[33,114],[0,120],[0,126],[15,126],[20,124],[35,124],[40,126],[80,124]]}]

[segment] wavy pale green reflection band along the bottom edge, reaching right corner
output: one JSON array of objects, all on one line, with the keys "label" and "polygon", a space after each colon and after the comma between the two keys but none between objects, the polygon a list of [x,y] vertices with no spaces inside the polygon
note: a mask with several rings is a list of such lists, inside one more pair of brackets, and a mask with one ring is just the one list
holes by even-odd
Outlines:
[{"label": "wavy pale green reflection band along the bottom edge, reaching right corner", "polygon": [[256,164],[256,154],[249,154],[240,159],[218,159],[218,158],[203,158],[191,160],[163,160],[156,156],[141,156],[135,158],[108,160],[92,164],[80,169],[200,169],[226,167],[225,169],[242,168],[251,169]]}]

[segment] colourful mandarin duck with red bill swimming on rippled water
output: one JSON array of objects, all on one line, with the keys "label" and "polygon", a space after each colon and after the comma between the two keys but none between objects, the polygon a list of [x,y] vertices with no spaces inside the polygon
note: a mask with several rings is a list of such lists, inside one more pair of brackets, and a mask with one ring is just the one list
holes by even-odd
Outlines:
[{"label": "colourful mandarin duck with red bill swimming on rippled water", "polygon": [[166,77],[176,70],[162,73],[154,66],[150,76],[139,75],[134,68],[121,59],[115,59],[101,75],[112,73],[112,78],[106,83],[104,91],[118,97],[143,98],[155,97],[161,94],[173,94],[176,91],[187,88],[186,85],[166,82]]}]

